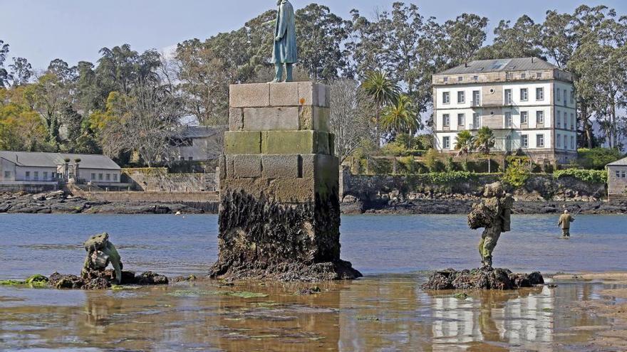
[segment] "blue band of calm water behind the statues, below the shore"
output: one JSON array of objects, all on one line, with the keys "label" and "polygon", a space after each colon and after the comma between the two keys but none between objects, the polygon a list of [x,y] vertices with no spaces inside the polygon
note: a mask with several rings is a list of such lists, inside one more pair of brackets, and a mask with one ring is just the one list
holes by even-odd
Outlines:
[{"label": "blue band of calm water behind the statues, below the shore", "polygon": [[[130,270],[203,273],[217,258],[217,216],[0,215],[0,279],[79,272],[90,235],[106,231]],[[571,240],[556,216],[514,216],[494,253],[512,270],[627,270],[627,215],[580,215]],[[479,265],[480,231],[461,215],[358,215],[342,218],[342,258],[363,274]]]}]

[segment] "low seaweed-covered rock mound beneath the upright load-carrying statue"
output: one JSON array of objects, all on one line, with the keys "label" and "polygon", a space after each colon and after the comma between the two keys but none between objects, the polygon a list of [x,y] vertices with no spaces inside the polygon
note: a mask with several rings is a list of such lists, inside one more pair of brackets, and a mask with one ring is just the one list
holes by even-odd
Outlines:
[{"label": "low seaweed-covered rock mound beneath the upright load-carrying statue", "polygon": [[519,289],[544,284],[540,272],[531,274],[514,274],[511,270],[501,268],[480,268],[457,271],[453,269],[434,272],[422,288],[425,290],[440,289]]}]

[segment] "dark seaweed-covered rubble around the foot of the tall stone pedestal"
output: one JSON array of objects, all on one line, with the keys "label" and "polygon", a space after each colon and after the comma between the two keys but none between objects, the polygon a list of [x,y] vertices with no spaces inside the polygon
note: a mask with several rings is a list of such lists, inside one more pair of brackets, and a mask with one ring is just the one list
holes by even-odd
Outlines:
[{"label": "dark seaweed-covered rubble around the foot of the tall stone pedestal", "polygon": [[282,282],[352,280],[362,276],[361,272],[353,269],[351,262],[344,260],[311,265],[302,263],[261,265],[246,262],[234,265],[216,262],[209,272],[209,277],[212,279],[271,279]]}]

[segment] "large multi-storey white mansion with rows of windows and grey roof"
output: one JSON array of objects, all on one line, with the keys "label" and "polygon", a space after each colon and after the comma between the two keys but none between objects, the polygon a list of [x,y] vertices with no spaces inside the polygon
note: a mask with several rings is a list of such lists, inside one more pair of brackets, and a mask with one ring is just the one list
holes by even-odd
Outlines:
[{"label": "large multi-storey white mansion with rows of windows and grey roof", "polygon": [[483,126],[494,151],[522,151],[535,161],[577,156],[571,73],[539,58],[477,60],[433,75],[435,146],[455,150],[457,134]]}]

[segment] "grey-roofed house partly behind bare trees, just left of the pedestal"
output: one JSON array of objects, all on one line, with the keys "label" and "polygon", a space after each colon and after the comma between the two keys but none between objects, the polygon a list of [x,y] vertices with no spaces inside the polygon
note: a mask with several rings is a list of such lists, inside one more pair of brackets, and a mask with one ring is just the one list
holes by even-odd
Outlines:
[{"label": "grey-roofed house partly behind bare trees, just left of the pedestal", "polygon": [[227,127],[186,127],[180,141],[176,141],[178,161],[212,161],[222,154],[222,134]]}]

